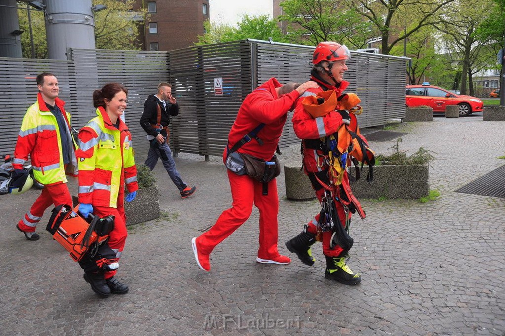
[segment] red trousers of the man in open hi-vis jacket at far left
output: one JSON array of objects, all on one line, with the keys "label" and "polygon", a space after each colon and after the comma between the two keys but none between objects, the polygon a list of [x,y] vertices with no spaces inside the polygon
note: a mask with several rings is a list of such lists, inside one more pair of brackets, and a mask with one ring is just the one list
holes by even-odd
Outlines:
[{"label": "red trousers of the man in open hi-vis jacket at far left", "polygon": [[21,218],[18,225],[22,231],[33,232],[44,211],[51,205],[73,205],[72,196],[66,183],[58,183],[44,186],[42,193],[35,200],[30,210]]}]

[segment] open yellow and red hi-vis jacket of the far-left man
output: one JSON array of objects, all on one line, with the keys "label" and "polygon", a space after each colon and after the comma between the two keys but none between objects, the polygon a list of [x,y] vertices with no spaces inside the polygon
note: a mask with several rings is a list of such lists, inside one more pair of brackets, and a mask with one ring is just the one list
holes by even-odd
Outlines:
[{"label": "open yellow and red hi-vis jacket of the far-left man", "polygon": [[65,183],[69,175],[77,175],[77,159],[75,149],[77,144],[70,134],[70,114],[65,111],[65,102],[55,98],[55,104],[62,111],[68,129],[66,141],[72,143],[70,147],[70,162],[63,164],[62,139],[56,117],[47,108],[41,93],[37,95],[37,102],[28,107],[19,130],[18,142],[14,150],[14,169],[22,169],[30,155],[34,178],[42,184]]}]

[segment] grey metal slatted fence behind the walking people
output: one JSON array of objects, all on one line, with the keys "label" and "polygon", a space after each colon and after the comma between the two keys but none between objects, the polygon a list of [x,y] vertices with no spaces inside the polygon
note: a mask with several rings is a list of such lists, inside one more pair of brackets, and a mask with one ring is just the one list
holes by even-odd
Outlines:
[{"label": "grey metal slatted fence behind the walking people", "polygon": [[[243,40],[194,46],[169,52],[71,49],[72,61],[0,58],[0,153],[12,153],[21,120],[38,92],[35,77],[54,73],[60,97],[67,101],[72,126],[82,127],[95,116],[93,90],[107,82],[128,88],[125,121],[138,159],[148,142],[139,125],[143,104],[158,83],[174,85],[179,116],[172,119],[171,146],[176,152],[221,155],[228,132],[244,97],[276,77],[281,83],[310,78],[314,47]],[[351,52],[345,79],[347,92],[362,99],[360,127],[405,117],[405,58]],[[214,94],[214,79],[222,78],[223,94]],[[288,115],[279,146],[298,143]]]}]

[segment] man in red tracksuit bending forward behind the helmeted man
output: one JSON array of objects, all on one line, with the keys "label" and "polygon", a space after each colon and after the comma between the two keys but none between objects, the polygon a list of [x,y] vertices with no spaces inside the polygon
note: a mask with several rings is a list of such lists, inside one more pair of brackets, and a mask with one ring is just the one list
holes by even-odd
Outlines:
[{"label": "man in red tracksuit bending forward behind the helmeted man", "polygon": [[[275,78],[271,78],[245,97],[228,136],[228,146],[223,153],[225,162],[230,149],[262,123],[265,125],[256,137],[252,140],[249,138],[250,141],[242,144],[237,152],[265,161],[272,160],[287,112],[293,108],[300,94],[309,88],[317,87],[317,84],[311,81],[299,86],[288,84],[283,86]],[[237,175],[228,170],[228,179],[233,198],[232,208],[225,210],[209,231],[193,238],[191,242],[198,266],[210,271],[210,253],[247,220],[253,204],[260,210],[260,248],[256,260],[260,263],[289,263],[291,259],[280,255],[277,250],[279,197],[275,178],[264,186],[264,183],[248,175]]]}]

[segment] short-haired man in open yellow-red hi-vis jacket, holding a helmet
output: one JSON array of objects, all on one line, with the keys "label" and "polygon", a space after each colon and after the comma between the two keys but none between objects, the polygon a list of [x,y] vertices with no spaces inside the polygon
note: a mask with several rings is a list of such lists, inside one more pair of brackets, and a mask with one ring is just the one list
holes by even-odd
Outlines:
[{"label": "short-haired man in open yellow-red hi-vis jacket, holding a helmet", "polygon": [[28,107],[14,150],[13,178],[23,174],[23,164],[30,155],[33,177],[44,184],[42,193],[16,228],[28,240],[39,240],[35,228],[49,206],[72,204],[65,174],[77,175],[77,144],[70,133],[70,114],[58,98],[58,80],[51,73],[37,76],[37,101]]}]

